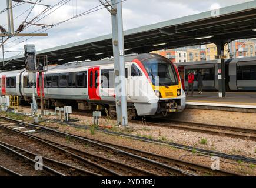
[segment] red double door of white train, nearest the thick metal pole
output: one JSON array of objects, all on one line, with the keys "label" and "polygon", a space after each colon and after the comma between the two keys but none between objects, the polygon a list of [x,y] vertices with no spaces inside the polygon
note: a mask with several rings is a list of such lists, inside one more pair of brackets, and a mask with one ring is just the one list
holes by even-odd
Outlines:
[{"label": "red double door of white train, nearest the thick metal pole", "polygon": [[99,66],[88,70],[88,95],[90,100],[101,100],[99,96]]}]

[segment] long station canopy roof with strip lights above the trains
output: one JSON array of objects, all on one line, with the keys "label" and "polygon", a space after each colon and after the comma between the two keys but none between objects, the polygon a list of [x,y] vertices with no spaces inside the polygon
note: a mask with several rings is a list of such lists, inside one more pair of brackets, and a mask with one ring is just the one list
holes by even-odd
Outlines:
[{"label": "long station canopy roof with strip lights above the trains", "polygon": [[[255,29],[256,1],[245,2],[124,31],[125,54],[255,38]],[[36,55],[48,55],[50,65],[105,58],[112,56],[112,35],[45,49]],[[0,62],[1,70],[24,68],[23,55],[5,59],[8,61],[5,68]]]}]

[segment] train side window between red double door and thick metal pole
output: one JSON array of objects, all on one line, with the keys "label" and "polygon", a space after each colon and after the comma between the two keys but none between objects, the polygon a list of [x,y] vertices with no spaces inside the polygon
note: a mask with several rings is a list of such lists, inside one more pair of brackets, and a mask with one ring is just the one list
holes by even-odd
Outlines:
[{"label": "train side window between red double door and thick metal pole", "polygon": [[115,75],[114,69],[101,70],[101,87],[102,88],[114,88]]}]

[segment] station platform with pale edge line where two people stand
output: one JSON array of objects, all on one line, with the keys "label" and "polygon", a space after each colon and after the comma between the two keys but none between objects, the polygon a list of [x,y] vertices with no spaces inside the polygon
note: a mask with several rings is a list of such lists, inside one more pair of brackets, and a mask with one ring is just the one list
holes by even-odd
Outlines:
[{"label": "station platform with pale edge line where two people stand", "polygon": [[234,112],[256,113],[256,92],[227,92],[225,98],[219,98],[218,92],[202,92],[187,96],[187,108],[228,110]]}]

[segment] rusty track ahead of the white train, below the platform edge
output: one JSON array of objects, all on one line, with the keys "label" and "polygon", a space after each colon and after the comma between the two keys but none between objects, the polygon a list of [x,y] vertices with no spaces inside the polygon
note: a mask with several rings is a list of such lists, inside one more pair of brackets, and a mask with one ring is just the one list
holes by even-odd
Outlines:
[{"label": "rusty track ahead of the white train, below the platform edge", "polygon": [[[163,122],[164,120],[164,122]],[[220,125],[209,125],[204,123],[191,123],[182,120],[161,119],[163,123],[157,123],[156,120],[150,120],[147,125],[165,127],[171,129],[189,130],[194,132],[209,133],[211,135],[220,135],[240,139],[256,140],[256,130],[240,127],[229,127]],[[137,121],[134,121],[137,123]],[[158,121],[159,122],[159,121]]]}]

